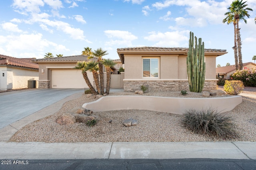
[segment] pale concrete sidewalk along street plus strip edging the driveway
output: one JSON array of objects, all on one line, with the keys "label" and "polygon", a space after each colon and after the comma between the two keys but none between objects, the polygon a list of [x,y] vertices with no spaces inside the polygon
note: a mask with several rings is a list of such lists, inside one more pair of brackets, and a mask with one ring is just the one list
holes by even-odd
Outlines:
[{"label": "pale concrete sidewalk along street plus strip edging the driveway", "polygon": [[167,143],[41,143],[8,142],[24,125],[58,111],[68,96],[0,129],[0,159],[185,159],[218,158],[256,161],[256,142],[167,142]]}]

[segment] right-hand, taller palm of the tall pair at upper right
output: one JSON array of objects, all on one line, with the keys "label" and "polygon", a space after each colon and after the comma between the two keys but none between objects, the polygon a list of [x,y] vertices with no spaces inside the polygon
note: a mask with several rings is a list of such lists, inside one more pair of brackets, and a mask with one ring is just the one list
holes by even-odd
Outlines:
[{"label": "right-hand, taller palm of the tall pair at upper right", "polygon": [[[247,2],[247,1],[246,1]],[[239,21],[244,20],[245,23],[247,23],[247,20],[245,17],[250,18],[250,15],[248,14],[248,11],[253,11],[251,8],[246,8],[247,4],[246,2],[243,2],[243,0],[234,0],[230,7],[228,7],[228,10],[234,14],[234,18],[236,20],[236,42],[238,47],[238,69],[243,69],[243,63],[242,63],[242,52],[241,52],[241,36],[240,36],[240,28],[239,28]]]}]

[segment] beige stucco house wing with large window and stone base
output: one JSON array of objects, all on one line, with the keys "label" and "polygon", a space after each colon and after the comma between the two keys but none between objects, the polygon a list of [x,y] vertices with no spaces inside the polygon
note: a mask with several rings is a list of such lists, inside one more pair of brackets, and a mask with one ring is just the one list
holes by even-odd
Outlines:
[{"label": "beige stucco house wing with large window and stone base", "polygon": [[[124,91],[148,86],[149,91],[188,90],[186,57],[188,48],[134,47],[117,49],[125,64]],[[206,76],[203,90],[215,90],[216,57],[226,50],[205,49]]]}]

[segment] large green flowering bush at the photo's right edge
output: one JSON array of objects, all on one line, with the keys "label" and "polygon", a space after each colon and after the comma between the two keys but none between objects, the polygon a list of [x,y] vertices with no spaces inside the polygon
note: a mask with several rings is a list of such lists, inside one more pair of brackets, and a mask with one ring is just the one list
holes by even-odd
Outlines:
[{"label": "large green flowering bush at the photo's right edge", "polygon": [[237,70],[230,77],[234,80],[241,80],[244,82],[244,86],[256,87],[256,67],[244,67],[243,70]]}]

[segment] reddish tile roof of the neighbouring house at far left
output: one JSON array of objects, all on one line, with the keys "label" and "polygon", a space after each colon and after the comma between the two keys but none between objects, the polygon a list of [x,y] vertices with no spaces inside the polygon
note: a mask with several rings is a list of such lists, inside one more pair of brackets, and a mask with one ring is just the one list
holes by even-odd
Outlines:
[{"label": "reddish tile roof of the neighbouring house at far left", "polygon": [[36,68],[36,69],[39,68],[38,64],[32,63],[31,61],[10,57],[6,55],[0,55],[0,65],[11,65],[11,66]]}]

